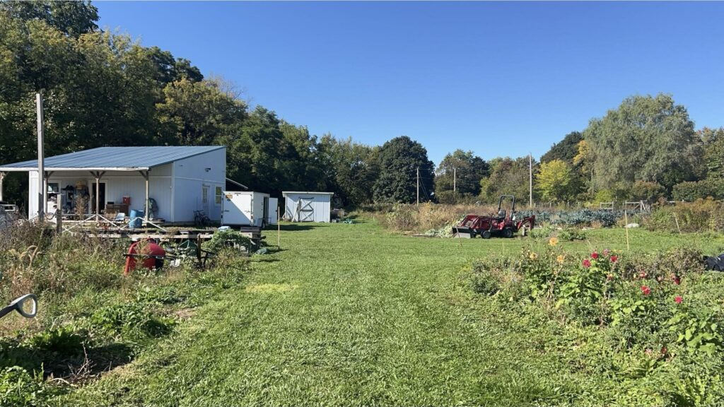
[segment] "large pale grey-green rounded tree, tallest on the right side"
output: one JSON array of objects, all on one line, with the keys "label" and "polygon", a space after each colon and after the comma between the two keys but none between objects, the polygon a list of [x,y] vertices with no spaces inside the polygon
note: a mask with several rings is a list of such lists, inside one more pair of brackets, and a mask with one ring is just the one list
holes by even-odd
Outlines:
[{"label": "large pale grey-green rounded tree, tallest on the right side", "polygon": [[686,108],[669,95],[632,96],[584,131],[597,188],[658,182],[670,190],[699,172],[701,144]]}]

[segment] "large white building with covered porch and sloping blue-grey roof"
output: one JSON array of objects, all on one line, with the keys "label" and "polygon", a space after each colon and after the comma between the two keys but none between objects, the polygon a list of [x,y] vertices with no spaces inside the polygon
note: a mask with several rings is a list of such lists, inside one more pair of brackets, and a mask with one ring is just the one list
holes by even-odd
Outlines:
[{"label": "large white building with covered porch and sloping blue-grey roof", "polygon": [[[38,214],[38,162],[0,166],[0,172],[28,172],[28,217]],[[166,223],[191,223],[194,211],[221,219],[226,188],[224,146],[100,147],[52,156],[44,172],[53,200],[64,212],[75,212],[77,196],[88,199],[86,213],[145,211],[156,203],[153,217]],[[57,195],[56,195],[57,194]],[[96,198],[97,196],[97,198]],[[148,216],[148,214],[146,214]]]}]

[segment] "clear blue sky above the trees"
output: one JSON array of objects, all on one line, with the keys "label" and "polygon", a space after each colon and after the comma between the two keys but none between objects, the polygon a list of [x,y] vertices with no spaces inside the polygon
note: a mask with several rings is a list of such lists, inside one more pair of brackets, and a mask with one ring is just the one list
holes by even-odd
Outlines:
[{"label": "clear blue sky above the trees", "polygon": [[724,125],[724,3],[96,2],[311,133],[538,157],[633,94]]}]

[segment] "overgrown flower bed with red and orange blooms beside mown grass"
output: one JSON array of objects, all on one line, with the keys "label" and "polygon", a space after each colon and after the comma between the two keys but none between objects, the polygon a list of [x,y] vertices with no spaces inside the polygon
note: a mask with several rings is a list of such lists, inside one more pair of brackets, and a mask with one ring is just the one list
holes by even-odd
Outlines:
[{"label": "overgrown flower bed with red and orange blooms beside mown grass", "polygon": [[[552,238],[494,267],[478,261],[476,269],[487,270],[479,277],[495,287],[482,293],[500,298],[515,288],[517,295],[503,298],[525,300],[520,312],[539,318],[533,313],[542,311],[548,324],[563,324],[560,332],[576,332],[558,340],[570,341],[565,355],[576,364],[613,381],[618,390],[605,405],[719,406],[724,273],[705,272],[701,255],[675,248],[576,256]],[[521,319],[534,319],[526,314]]]}]

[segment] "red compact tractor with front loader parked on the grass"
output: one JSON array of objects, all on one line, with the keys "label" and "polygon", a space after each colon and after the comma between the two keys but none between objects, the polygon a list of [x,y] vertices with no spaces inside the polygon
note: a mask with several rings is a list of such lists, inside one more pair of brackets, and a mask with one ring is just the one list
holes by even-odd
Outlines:
[{"label": "red compact tractor with front loader parked on the grass", "polygon": [[[510,214],[506,214],[505,209],[502,209],[502,201],[505,198],[510,198],[512,201]],[[535,223],[535,215],[517,219],[515,216],[515,196],[502,195],[500,196],[500,201],[498,201],[497,215],[468,215],[463,219],[463,222],[460,222],[460,225],[452,227],[452,232],[455,233],[455,238],[470,239],[480,236],[481,238],[489,239],[493,235],[512,238],[515,232],[518,232],[521,227],[529,225],[529,229],[533,229]]]}]

